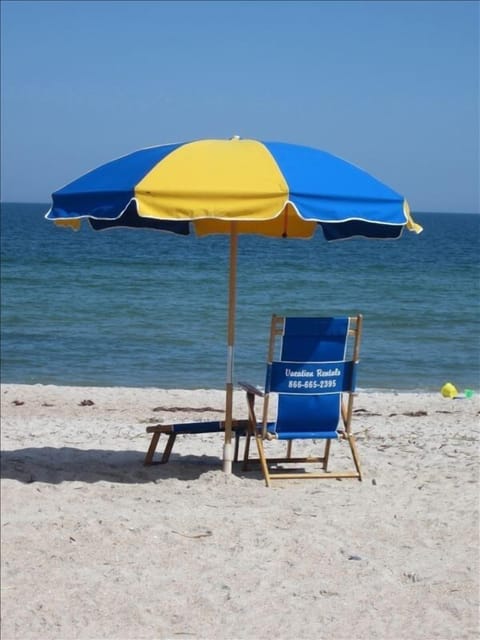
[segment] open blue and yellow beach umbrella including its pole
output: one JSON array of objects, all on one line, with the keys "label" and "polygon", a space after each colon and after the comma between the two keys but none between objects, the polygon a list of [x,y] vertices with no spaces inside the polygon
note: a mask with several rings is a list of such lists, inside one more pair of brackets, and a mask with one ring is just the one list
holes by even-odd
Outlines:
[{"label": "open blue and yellow beach umbrella including its pole", "polygon": [[52,194],[46,214],[78,229],[152,228],[230,236],[223,468],[231,472],[238,236],[327,241],[399,238],[420,232],[405,198],[326,151],[253,139],[194,140],[141,149],[112,160]]}]

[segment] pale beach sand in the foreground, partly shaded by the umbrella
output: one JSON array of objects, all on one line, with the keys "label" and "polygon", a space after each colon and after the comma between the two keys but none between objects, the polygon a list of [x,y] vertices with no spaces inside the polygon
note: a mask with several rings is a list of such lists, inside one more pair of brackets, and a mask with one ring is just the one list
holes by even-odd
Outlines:
[{"label": "pale beach sand in the foreground, partly shaded by the umbrella", "polygon": [[270,489],[218,434],[143,465],[146,426],[221,419],[223,391],[1,400],[2,640],[480,637],[478,395],[360,393],[363,482]]}]

